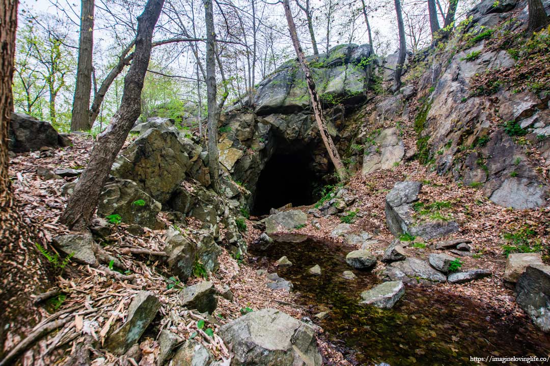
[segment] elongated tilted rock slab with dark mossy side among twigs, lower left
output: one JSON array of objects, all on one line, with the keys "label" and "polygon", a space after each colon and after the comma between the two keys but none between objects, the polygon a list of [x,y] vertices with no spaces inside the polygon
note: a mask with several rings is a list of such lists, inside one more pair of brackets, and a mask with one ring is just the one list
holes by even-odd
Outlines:
[{"label": "elongated tilted rock slab with dark mossy side among twigs, lower left", "polygon": [[126,322],[107,338],[108,350],[115,354],[126,353],[139,341],[160,307],[161,302],[151,292],[138,292],[130,303]]}]

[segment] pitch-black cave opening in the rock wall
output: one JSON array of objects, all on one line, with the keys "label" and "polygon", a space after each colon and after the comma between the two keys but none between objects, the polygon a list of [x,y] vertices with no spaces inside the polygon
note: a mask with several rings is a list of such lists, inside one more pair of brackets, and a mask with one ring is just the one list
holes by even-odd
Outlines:
[{"label": "pitch-black cave opening in the rock wall", "polygon": [[293,207],[311,205],[318,185],[311,162],[311,155],[305,151],[273,155],[260,173],[252,214],[267,215],[272,208],[289,203]]}]

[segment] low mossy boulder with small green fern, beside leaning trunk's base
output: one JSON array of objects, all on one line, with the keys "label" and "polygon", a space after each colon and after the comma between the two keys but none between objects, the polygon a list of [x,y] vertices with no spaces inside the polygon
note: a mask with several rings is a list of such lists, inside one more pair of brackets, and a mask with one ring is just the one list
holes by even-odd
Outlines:
[{"label": "low mossy boulder with small green fern, beside leaning trunk's base", "polygon": [[120,215],[125,224],[160,229],[164,226],[157,218],[161,209],[160,202],[152,199],[135,182],[114,179],[103,187],[97,206],[97,215],[100,217]]}]

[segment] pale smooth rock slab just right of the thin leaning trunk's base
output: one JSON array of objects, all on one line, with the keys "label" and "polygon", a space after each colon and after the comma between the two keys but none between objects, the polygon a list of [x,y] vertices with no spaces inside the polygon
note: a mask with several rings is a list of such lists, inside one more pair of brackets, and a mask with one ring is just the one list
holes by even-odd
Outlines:
[{"label": "pale smooth rock slab just right of the thin leaning trunk's base", "polygon": [[365,150],[362,173],[387,170],[399,165],[405,155],[405,145],[396,127],[383,129],[374,143]]}]

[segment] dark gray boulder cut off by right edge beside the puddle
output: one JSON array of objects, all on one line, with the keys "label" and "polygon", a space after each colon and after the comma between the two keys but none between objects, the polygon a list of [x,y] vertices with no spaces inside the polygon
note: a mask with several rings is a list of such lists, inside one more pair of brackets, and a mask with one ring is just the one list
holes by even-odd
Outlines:
[{"label": "dark gray boulder cut off by right edge beside the puddle", "polygon": [[550,332],[550,266],[532,264],[518,279],[516,302],[544,332]]}]

